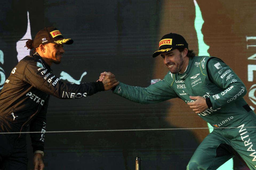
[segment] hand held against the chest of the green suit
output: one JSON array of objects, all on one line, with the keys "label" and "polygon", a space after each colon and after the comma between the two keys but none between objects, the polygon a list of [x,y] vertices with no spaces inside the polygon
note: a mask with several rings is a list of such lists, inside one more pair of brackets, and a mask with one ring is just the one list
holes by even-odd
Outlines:
[{"label": "hand held against the chest of the green suit", "polygon": [[205,111],[208,106],[206,104],[206,100],[204,97],[201,96],[189,96],[190,99],[195,100],[194,102],[187,103],[189,107],[195,112],[195,113],[202,113]]}]

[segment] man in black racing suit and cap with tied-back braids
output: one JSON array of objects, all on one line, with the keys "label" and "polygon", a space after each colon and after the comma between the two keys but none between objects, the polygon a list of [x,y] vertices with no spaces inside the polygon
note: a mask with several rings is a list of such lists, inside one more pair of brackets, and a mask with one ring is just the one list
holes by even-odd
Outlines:
[{"label": "man in black racing suit and cap with tied-back braids", "polygon": [[44,164],[44,137],[46,112],[50,95],[60,99],[90,96],[109,90],[118,82],[112,74],[102,82],[81,84],[64,83],[50,68],[60,63],[64,53],[64,39],[57,28],[45,28],[29,40],[26,46],[34,48],[33,56],[24,57],[11,71],[0,93],[0,169],[27,169],[26,132],[29,126],[34,152],[34,169],[42,170]]}]

